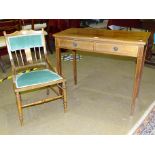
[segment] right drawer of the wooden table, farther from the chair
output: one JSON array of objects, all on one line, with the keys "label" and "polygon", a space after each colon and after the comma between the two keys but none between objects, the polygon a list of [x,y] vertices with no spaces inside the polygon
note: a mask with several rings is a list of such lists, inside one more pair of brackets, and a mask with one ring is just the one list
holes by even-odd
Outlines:
[{"label": "right drawer of the wooden table, farther from the chair", "polygon": [[94,50],[100,53],[137,57],[138,46],[95,43]]}]

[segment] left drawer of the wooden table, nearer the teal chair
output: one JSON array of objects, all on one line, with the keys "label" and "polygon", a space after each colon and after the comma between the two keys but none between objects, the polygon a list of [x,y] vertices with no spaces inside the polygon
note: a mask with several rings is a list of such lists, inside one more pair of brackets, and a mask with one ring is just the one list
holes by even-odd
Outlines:
[{"label": "left drawer of the wooden table, nearer the teal chair", "polygon": [[91,41],[59,39],[58,43],[59,43],[59,47],[61,48],[79,49],[79,50],[87,50],[87,51],[93,51],[94,49],[94,43]]}]

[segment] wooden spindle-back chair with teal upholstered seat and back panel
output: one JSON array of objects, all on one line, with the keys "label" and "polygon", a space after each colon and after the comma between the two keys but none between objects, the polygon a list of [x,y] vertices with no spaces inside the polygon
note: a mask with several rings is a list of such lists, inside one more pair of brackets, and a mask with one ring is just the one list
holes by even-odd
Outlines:
[{"label": "wooden spindle-back chair with teal upholstered seat and back panel", "polygon": [[[57,74],[51,66],[47,56],[44,30],[21,30],[6,34],[6,44],[13,73],[13,88],[16,95],[19,120],[23,124],[23,108],[34,106],[49,101],[62,99],[64,111],[67,110],[66,84],[65,79]],[[34,70],[34,68],[37,68]],[[26,70],[31,72],[26,72]],[[29,104],[22,104],[21,94],[47,89],[47,97]],[[49,97],[49,90],[56,95]],[[30,91],[31,90],[31,91]]]}]

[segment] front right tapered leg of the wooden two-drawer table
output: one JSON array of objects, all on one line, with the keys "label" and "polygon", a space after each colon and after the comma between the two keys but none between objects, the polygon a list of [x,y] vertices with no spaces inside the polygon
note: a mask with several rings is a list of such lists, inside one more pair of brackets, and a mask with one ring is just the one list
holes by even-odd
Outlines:
[{"label": "front right tapered leg of the wooden two-drawer table", "polygon": [[132,104],[131,104],[131,115],[133,115],[135,110],[136,98],[139,93],[139,86],[140,86],[140,81],[142,77],[142,70],[143,70],[144,59],[145,59],[145,51],[143,50],[144,50],[143,47],[139,48],[138,57],[137,57],[134,89],[133,89]]}]

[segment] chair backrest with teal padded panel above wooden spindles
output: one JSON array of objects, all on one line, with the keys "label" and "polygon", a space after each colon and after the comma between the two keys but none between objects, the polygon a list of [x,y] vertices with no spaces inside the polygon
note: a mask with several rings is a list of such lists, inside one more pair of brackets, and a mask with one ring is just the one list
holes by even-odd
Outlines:
[{"label": "chair backrest with teal padded panel above wooden spindles", "polygon": [[41,63],[47,56],[44,30],[21,30],[6,34],[6,44],[14,67]]}]

